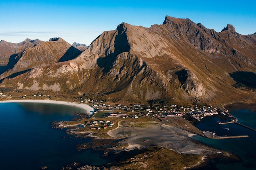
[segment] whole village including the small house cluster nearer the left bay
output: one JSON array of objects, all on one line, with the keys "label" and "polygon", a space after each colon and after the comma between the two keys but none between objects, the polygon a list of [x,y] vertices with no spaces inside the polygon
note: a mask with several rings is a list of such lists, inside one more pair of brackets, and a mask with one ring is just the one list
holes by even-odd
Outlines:
[{"label": "whole village including the small house cluster nearer the left bay", "polygon": [[[82,99],[82,98],[81,98]],[[178,105],[142,105],[142,104],[131,104],[130,106],[115,104],[110,106],[110,104],[105,104],[103,100],[93,100],[93,99],[83,99],[82,103],[86,103],[94,108],[94,114],[91,115],[91,121],[85,122],[86,126],[90,126],[90,129],[100,130],[101,128],[111,128],[114,122],[109,121],[108,118],[121,118],[121,119],[141,119],[144,117],[151,117],[158,119],[167,124],[166,121],[171,122],[174,117],[179,117],[183,119],[182,126],[180,128],[189,128],[188,122],[190,119],[186,117],[192,117],[195,120],[200,121],[203,117],[212,116],[216,114],[223,114],[224,111],[212,108],[210,106],[203,107],[184,107]],[[224,113],[225,114],[225,113]],[[102,120],[100,119],[102,118]],[[103,121],[103,118],[105,121]],[[97,119],[93,120],[93,119]],[[184,123],[185,122],[185,123]],[[180,124],[180,123],[179,123]]]}]

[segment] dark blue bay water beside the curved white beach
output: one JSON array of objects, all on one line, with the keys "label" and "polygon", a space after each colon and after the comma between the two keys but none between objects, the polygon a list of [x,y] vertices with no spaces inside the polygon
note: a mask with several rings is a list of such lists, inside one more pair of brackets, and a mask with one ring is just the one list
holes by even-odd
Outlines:
[{"label": "dark blue bay water beside the curved white beach", "polygon": [[[108,162],[103,151],[78,151],[90,139],[52,128],[53,121],[72,120],[81,108],[43,103],[0,103],[0,169],[61,170],[75,161],[100,165]],[[65,138],[63,138],[65,136]]]}]

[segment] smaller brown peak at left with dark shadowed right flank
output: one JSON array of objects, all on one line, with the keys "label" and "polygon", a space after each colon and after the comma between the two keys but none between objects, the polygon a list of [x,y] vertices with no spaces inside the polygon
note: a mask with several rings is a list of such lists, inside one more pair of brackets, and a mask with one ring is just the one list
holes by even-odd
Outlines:
[{"label": "smaller brown peak at left with dark shadowed right flank", "polygon": [[24,50],[9,59],[8,71],[0,75],[0,79],[16,75],[40,66],[63,62],[77,57],[82,51],[74,48],[62,38],[51,38],[36,46],[22,46]]}]

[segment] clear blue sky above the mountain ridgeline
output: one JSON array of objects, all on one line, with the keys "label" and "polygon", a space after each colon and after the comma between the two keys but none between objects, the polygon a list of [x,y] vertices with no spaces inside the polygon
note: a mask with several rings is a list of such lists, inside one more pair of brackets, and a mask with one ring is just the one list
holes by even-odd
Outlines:
[{"label": "clear blue sky above the mountain ridgeline", "polygon": [[0,0],[0,40],[61,37],[90,45],[122,22],[150,27],[162,24],[166,15],[217,32],[227,24],[243,35],[256,32],[256,0]]}]

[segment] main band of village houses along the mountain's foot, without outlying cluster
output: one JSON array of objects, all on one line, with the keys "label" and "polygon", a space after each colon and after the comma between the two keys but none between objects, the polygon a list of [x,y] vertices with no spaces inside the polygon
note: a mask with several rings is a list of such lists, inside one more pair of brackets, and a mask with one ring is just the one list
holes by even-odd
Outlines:
[{"label": "main band of village houses along the mountain's foot, without outlying cluster", "polygon": [[105,115],[105,117],[132,117],[134,119],[138,119],[139,117],[145,116],[167,118],[172,116],[191,115],[191,117],[200,121],[200,119],[203,119],[206,116],[212,116],[219,113],[226,114],[224,113],[225,111],[212,108],[211,106],[184,107],[176,104],[169,106],[148,106],[141,104],[131,104],[130,106],[126,106],[116,104],[114,106],[110,106],[109,104],[105,104],[103,100],[98,101],[93,99],[85,99],[81,102],[84,102],[94,108],[94,114],[104,113],[103,115]]}]

